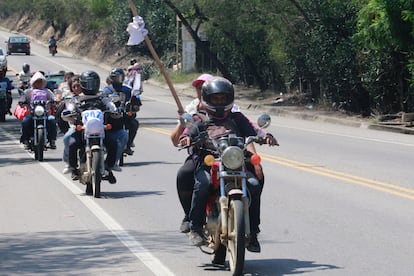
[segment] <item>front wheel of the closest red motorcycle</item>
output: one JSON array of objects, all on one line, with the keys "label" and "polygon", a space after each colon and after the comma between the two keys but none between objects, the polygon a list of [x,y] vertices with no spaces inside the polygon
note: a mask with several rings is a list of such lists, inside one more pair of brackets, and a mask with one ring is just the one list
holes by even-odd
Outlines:
[{"label": "front wheel of the closest red motorcycle", "polygon": [[243,202],[240,199],[231,200],[228,212],[230,271],[233,275],[242,275],[246,250]]}]

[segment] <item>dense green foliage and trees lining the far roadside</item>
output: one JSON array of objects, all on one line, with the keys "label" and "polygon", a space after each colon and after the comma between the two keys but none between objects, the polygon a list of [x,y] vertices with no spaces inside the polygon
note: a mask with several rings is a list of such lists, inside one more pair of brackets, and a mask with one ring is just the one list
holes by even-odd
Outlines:
[{"label": "dense green foliage and trees lining the far roadside", "polygon": [[[134,0],[157,53],[177,62],[176,18],[233,82],[299,91],[363,115],[414,112],[414,0]],[[0,16],[31,11],[64,34],[110,30],[124,45],[127,0],[1,1]],[[202,35],[201,35],[202,34]],[[207,37],[206,39],[204,39]],[[149,55],[145,44],[130,51]],[[213,69],[212,69],[213,68]]]}]

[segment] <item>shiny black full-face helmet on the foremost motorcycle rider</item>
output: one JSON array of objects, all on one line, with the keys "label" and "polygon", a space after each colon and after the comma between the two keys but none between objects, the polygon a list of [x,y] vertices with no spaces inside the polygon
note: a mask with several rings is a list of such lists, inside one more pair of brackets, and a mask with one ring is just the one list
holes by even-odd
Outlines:
[{"label": "shiny black full-face helmet on the foremost motorcycle rider", "polygon": [[[222,77],[212,77],[204,82],[202,88],[203,105],[206,111],[218,119],[226,116],[225,112],[230,111],[234,102],[234,87],[233,84]],[[211,101],[213,95],[223,94],[226,96],[223,103],[217,104]]]}]

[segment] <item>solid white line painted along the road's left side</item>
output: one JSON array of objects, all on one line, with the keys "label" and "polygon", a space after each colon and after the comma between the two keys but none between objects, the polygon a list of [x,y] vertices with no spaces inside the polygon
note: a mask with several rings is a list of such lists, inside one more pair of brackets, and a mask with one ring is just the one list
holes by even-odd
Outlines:
[{"label": "solid white line painted along the road's left side", "polygon": [[[0,130],[15,144],[18,144],[16,137],[0,127]],[[21,146],[21,145],[20,145]],[[21,146],[23,147],[23,146]],[[136,241],[122,226],[106,213],[94,200],[93,197],[84,196],[83,191],[71,180],[63,176],[58,170],[47,162],[39,162],[48,173],[54,176],[69,191],[71,191],[101,222],[110,230],[143,264],[145,264],[155,275],[165,276],[174,273],[152,255],[145,247]]]}]

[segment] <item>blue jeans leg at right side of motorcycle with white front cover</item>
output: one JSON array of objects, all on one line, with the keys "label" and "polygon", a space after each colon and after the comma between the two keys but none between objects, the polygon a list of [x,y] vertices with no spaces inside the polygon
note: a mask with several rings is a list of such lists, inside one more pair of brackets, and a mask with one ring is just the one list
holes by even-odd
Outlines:
[{"label": "blue jeans leg at right side of motorcycle with white front cover", "polygon": [[115,162],[121,159],[121,154],[128,142],[128,132],[125,129],[110,130],[105,133],[106,165],[113,168]]}]

